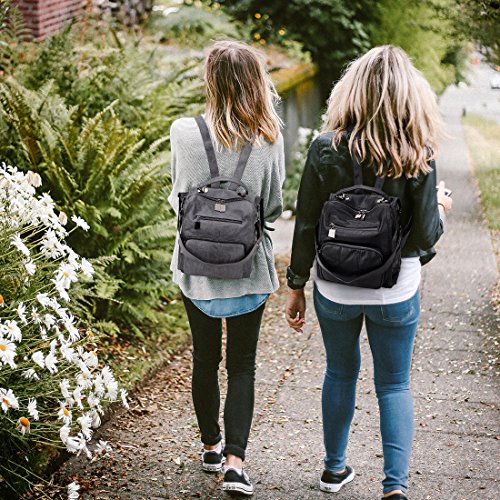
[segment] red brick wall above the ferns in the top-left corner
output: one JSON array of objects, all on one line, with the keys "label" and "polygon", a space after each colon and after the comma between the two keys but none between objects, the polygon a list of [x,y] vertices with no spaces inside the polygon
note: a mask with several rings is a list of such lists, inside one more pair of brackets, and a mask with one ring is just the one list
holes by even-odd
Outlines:
[{"label": "red brick wall above the ferns in the top-left corner", "polygon": [[35,38],[44,38],[81,15],[87,0],[17,0],[26,26]]}]

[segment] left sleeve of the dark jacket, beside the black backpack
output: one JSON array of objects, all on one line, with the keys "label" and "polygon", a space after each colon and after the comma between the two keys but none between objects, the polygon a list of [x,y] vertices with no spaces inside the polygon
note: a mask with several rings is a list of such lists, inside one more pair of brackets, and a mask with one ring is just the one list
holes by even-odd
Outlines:
[{"label": "left sleeve of the dark jacket, beside the black backpack", "polygon": [[320,194],[319,158],[319,142],[315,140],[309,148],[297,197],[292,257],[287,271],[288,286],[290,288],[303,288],[305,286],[316,255],[316,224],[324,201]]}]

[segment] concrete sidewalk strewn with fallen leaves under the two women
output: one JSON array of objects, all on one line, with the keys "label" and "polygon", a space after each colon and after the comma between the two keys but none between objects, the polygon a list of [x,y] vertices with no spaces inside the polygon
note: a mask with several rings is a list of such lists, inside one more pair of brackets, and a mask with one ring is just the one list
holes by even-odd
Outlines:
[{"label": "concrete sidewalk strewn with fallen leaves under the two women", "polygon": [[[454,212],[424,268],[423,314],[413,366],[416,435],[410,498],[499,498],[498,325],[489,304],[496,280],[490,236],[471,176],[460,105],[442,98],[451,137],[442,144],[439,177],[454,191]],[[280,221],[277,247],[286,251],[290,222]],[[284,287],[269,303],[259,347],[257,401],[246,469],[256,499],[325,498],[322,470],[321,384],[324,353],[309,300],[308,326],[290,331]],[[356,479],[335,498],[381,496],[382,450],[372,363],[366,335],[357,411],[348,449]],[[99,432],[113,455],[83,464],[70,460],[62,475],[78,477],[84,498],[223,498],[221,476],[200,471],[190,395],[190,353],[180,354]],[[334,496],[334,495],[332,495]]]}]

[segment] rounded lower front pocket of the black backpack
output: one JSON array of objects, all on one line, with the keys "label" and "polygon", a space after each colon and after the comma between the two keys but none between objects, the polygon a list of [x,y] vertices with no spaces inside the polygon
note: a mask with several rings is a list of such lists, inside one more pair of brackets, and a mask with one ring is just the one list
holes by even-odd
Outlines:
[{"label": "rounded lower front pocket of the black backpack", "polygon": [[332,272],[344,276],[361,275],[380,267],[382,254],[375,248],[349,245],[335,241],[325,242],[319,255],[323,264]]}]

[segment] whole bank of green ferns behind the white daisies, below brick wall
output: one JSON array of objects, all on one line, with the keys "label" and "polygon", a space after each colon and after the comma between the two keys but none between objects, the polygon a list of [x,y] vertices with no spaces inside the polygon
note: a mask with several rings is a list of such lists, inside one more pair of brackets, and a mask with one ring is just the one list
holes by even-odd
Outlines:
[{"label": "whole bank of green ferns behind the white daisies, below brick wall", "polygon": [[104,46],[75,38],[68,29],[25,43],[32,55],[17,80],[0,80],[0,158],[39,172],[59,209],[88,219],[92,232],[71,244],[107,258],[88,310],[108,332],[141,335],[160,297],[178,293],[168,279],[168,130],[202,108],[199,59],[183,63],[117,37]]}]

